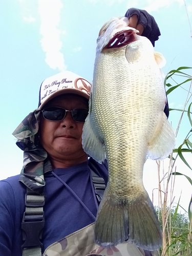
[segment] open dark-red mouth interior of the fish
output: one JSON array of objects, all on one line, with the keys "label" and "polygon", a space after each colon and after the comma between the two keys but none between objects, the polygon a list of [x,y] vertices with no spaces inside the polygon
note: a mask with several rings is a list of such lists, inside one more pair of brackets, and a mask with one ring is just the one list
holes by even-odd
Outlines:
[{"label": "open dark-red mouth interior of the fish", "polygon": [[119,31],[110,39],[105,49],[119,48],[128,45],[130,42],[135,41],[134,35],[135,31],[131,29]]}]

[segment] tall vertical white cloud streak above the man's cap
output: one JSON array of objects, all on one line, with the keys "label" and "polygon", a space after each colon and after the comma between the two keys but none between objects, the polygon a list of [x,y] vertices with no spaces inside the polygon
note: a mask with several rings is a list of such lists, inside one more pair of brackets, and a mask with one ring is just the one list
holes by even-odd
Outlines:
[{"label": "tall vertical white cloud streak above the man's cap", "polygon": [[46,53],[46,63],[52,69],[66,70],[65,60],[61,53],[61,34],[65,33],[58,28],[60,11],[63,5],[60,0],[38,0],[40,15],[40,43]]}]

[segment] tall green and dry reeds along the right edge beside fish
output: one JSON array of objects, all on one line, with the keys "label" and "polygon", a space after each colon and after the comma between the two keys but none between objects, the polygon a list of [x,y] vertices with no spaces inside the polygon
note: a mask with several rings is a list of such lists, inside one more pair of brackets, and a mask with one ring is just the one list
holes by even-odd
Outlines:
[{"label": "tall green and dry reeds along the right edge beside fish", "polygon": [[[188,210],[183,208],[184,214],[179,213],[179,207],[182,207],[180,206],[180,202],[177,203],[177,206],[173,207],[175,180],[182,175],[187,179],[187,182],[191,184],[192,188],[191,178],[182,173],[178,173],[176,170],[177,160],[180,158],[186,168],[191,170],[192,174],[192,166],[190,166],[185,159],[186,154],[192,153],[190,137],[192,135],[192,93],[191,75],[187,74],[188,71],[191,71],[191,68],[180,67],[177,70],[170,71],[165,78],[165,88],[168,88],[166,91],[167,95],[177,92],[177,88],[179,87],[183,90],[187,90],[183,108],[169,109],[169,111],[180,113],[176,136],[180,130],[184,115],[188,117],[188,133],[183,135],[182,144],[175,148],[173,154],[170,154],[169,164],[166,170],[164,168],[164,162],[157,161],[159,179],[159,208],[157,208],[157,212],[163,229],[163,245],[160,249],[161,256],[192,256],[192,197],[188,202]],[[179,82],[177,82],[178,80]]]}]

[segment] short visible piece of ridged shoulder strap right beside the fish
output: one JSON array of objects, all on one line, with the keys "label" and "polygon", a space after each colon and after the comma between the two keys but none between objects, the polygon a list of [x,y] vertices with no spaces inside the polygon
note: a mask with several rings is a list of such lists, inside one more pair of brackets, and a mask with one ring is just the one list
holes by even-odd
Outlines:
[{"label": "short visible piece of ridged shoulder strap right beside the fish", "polygon": [[99,204],[103,197],[104,190],[105,190],[106,186],[104,183],[104,179],[102,177],[98,176],[92,169],[91,169],[91,176],[92,176],[92,182],[93,182],[93,186],[94,186],[94,190],[95,190],[95,195],[97,198],[97,202]]}]

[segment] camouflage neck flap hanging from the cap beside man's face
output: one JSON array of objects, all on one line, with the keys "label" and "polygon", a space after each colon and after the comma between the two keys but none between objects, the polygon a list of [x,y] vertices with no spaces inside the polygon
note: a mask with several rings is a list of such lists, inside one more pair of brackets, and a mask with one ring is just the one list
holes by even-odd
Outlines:
[{"label": "camouflage neck flap hanging from the cap beside man's face", "polygon": [[38,194],[45,187],[44,173],[52,170],[47,152],[39,142],[40,110],[31,112],[13,132],[16,145],[24,151],[24,165],[19,181]]}]

